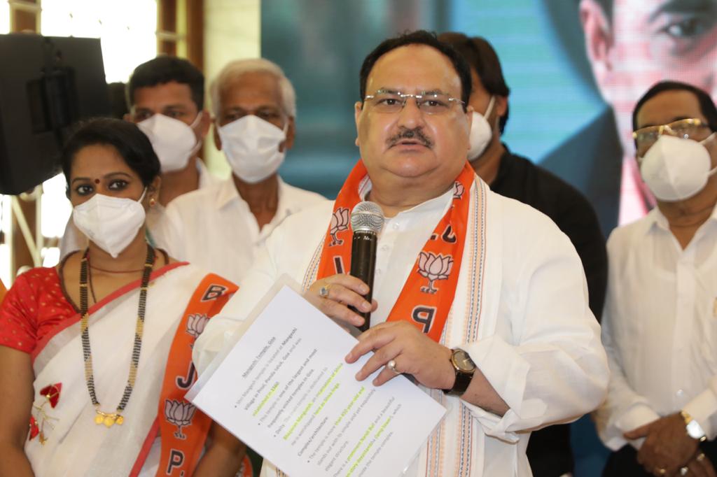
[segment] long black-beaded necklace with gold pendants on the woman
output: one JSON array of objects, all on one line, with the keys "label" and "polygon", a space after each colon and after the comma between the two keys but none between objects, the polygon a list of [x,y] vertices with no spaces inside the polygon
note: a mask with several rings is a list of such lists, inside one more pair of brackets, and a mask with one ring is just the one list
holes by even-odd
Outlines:
[{"label": "long black-beaded necklace with gold pendants on the woman", "polygon": [[142,284],[140,286],[139,293],[137,324],[135,327],[134,345],[132,347],[130,372],[127,377],[125,392],[122,395],[122,399],[120,400],[115,413],[104,413],[101,411],[100,403],[97,400],[97,395],[95,395],[95,376],[92,373],[92,350],[90,349],[90,314],[87,313],[87,269],[89,268],[87,266],[88,253],[89,249],[86,249],[80,264],[80,313],[82,313],[82,319],[80,319],[80,332],[82,332],[82,357],[85,360],[85,382],[87,382],[87,390],[90,392],[92,405],[95,406],[95,423],[104,424],[108,428],[111,428],[115,424],[122,425],[124,422],[122,413],[130,400],[130,395],[132,395],[132,390],[134,389],[137,378],[139,354],[142,350],[142,333],[144,330],[144,312],[147,304],[147,289],[149,286],[149,276],[152,273],[152,267],[154,265],[154,249],[152,246],[147,244],[147,259],[144,263],[142,271]]}]

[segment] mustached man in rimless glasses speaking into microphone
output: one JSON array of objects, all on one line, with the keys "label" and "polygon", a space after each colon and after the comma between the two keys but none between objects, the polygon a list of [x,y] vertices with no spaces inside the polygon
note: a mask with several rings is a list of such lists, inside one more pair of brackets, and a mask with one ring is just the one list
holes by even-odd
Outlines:
[{"label": "mustached man in rimless glasses speaking into microphone", "polygon": [[[578,418],[607,387],[580,259],[549,218],[490,192],[470,168],[470,70],[450,46],[422,31],[387,39],[359,81],[361,159],[336,201],[272,233],[196,342],[199,373],[288,274],[333,319],[360,327],[357,312],[371,312],[346,350],[350,363],[374,351],[357,380],[380,370],[379,386],[406,373],[447,409],[405,475],[530,476],[528,430]],[[386,218],[371,302],[369,286],[345,273],[361,201]],[[265,461],[262,475],[282,473]]]}]

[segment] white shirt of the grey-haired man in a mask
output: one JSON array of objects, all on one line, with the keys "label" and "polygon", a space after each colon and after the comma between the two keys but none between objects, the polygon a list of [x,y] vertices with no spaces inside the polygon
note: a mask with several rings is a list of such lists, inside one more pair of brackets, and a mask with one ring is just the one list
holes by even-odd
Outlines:
[{"label": "white shirt of the grey-haired man in a mask", "polygon": [[232,178],[171,201],[157,224],[158,245],[178,260],[239,283],[254,263],[257,249],[285,218],[316,203],[328,202],[279,179],[277,211],[261,229]]}]

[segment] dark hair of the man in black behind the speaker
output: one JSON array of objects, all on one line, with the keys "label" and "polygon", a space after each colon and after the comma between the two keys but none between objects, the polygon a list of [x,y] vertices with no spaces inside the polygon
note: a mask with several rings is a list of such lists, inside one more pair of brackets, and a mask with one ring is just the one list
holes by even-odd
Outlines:
[{"label": "dark hair of the man in black behind the speaker", "polygon": [[[450,44],[461,54],[470,67],[475,69],[483,87],[491,95],[508,97],[511,89],[505,84],[503,68],[500,67],[500,60],[495,49],[482,37],[467,37],[458,32],[445,32],[438,35],[440,41]],[[505,130],[505,123],[508,122],[508,109],[505,115],[500,117],[500,134]]]}]

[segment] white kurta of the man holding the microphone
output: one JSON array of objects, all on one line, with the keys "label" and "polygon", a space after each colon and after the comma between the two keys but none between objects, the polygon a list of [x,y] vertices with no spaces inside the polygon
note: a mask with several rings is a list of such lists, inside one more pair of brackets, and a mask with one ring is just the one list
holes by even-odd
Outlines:
[{"label": "white kurta of the man holding the microphone", "polygon": [[[485,268],[478,274],[480,283],[469,283],[472,275],[464,267],[470,268],[475,250],[467,240],[442,344],[466,350],[511,409],[500,417],[440,390],[425,390],[448,412],[407,476],[530,476],[528,429],[589,412],[607,387],[599,325],[587,306],[584,273],[569,239],[535,209],[484,187]],[[386,319],[450,198],[447,193],[387,221],[378,242],[374,298],[379,309],[372,324]],[[295,214],[270,236],[237,294],[194,345],[200,374],[279,276],[303,280],[332,207],[326,202]],[[466,304],[475,302],[467,297],[474,286],[483,289],[484,302],[477,340],[465,337]],[[262,473],[273,476],[275,468],[265,462]]]}]

